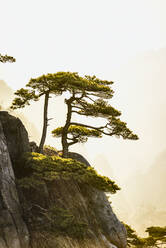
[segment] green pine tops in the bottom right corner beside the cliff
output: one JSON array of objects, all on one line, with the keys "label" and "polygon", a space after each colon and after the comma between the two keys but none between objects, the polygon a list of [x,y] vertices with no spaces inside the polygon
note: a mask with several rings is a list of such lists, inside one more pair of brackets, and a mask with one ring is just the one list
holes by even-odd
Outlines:
[{"label": "green pine tops in the bottom right corner beside the cliff", "polygon": [[166,227],[152,226],[146,229],[148,233],[147,238],[140,238],[136,232],[128,225],[125,224],[127,230],[127,243],[129,247],[133,248],[159,248],[166,245]]}]

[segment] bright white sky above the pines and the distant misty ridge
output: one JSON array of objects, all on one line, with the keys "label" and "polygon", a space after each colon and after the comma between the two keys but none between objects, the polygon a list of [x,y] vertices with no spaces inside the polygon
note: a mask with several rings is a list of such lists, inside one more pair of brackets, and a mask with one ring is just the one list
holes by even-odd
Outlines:
[{"label": "bright white sky above the pines and the distant misty ridge", "polygon": [[1,53],[17,59],[1,66],[13,88],[59,70],[112,79],[136,54],[166,44],[165,0],[1,1]]}]

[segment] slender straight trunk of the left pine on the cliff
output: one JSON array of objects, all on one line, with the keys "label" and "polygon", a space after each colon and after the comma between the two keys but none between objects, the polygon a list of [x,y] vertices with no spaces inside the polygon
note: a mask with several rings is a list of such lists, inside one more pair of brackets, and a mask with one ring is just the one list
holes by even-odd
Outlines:
[{"label": "slender straight trunk of the left pine on the cliff", "polygon": [[45,143],[46,139],[46,134],[47,134],[47,126],[48,126],[48,100],[49,100],[49,92],[45,94],[45,100],[44,100],[44,115],[43,115],[43,132],[42,132],[42,137],[39,145],[39,152],[43,153],[43,146]]}]

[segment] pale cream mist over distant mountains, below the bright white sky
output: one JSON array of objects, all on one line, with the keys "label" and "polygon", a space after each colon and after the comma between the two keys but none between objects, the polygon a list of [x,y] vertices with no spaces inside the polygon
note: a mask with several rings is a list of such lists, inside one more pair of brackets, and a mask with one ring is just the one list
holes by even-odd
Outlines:
[{"label": "pale cream mist over distant mountains, below the bright white sky", "polygon": [[[112,74],[113,106],[122,120],[138,134],[138,141],[105,137],[91,139],[72,150],[82,153],[103,175],[114,179],[121,191],[110,196],[118,217],[143,234],[146,227],[166,223],[166,49],[142,53]],[[13,92],[0,81],[0,104],[8,108]],[[39,142],[43,99],[16,111],[31,140]],[[2,109],[3,109],[2,108]],[[60,111],[59,111],[60,110]],[[50,131],[63,125],[64,99],[50,99],[50,122],[46,143],[61,149]]]}]

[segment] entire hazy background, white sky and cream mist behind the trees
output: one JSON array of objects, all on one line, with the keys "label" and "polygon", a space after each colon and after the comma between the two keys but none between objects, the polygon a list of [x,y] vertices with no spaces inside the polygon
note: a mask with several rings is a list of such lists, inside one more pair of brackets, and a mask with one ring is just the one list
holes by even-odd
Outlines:
[{"label": "entire hazy background, white sky and cream mist behind the trees", "polygon": [[[140,233],[166,225],[166,1],[6,0],[1,6],[0,53],[17,61],[0,65],[0,104],[7,108],[12,89],[44,73],[113,80],[111,103],[139,141],[105,137],[73,150],[121,186],[111,196],[121,220]],[[37,142],[42,106],[41,100],[17,112]],[[65,113],[63,99],[52,98],[49,131],[63,125]],[[46,143],[61,149],[50,134]]]}]

